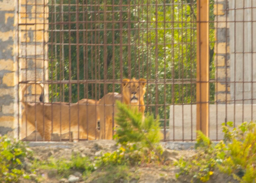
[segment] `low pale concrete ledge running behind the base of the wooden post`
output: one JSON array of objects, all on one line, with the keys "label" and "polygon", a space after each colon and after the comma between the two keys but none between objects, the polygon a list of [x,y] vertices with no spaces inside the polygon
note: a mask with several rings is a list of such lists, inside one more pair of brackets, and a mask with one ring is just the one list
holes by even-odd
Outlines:
[{"label": "low pale concrete ledge running behind the base of the wooden post", "polygon": [[[232,121],[237,126],[244,121],[256,120],[256,104],[210,104],[209,136],[223,139],[222,123]],[[196,105],[171,105],[168,140],[195,140]]]}]

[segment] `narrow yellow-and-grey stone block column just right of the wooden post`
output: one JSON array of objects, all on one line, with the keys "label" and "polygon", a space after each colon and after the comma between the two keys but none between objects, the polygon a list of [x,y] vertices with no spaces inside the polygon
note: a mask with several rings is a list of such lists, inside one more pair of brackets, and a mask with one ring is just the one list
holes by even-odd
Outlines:
[{"label": "narrow yellow-and-grey stone block column just right of the wooden post", "polygon": [[230,103],[230,35],[228,24],[228,1],[215,0],[215,101]]}]

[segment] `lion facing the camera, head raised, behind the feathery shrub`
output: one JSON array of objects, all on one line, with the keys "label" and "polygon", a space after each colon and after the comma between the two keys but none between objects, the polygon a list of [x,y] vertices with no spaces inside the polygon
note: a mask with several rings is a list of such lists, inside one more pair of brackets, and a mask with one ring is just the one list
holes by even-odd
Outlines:
[{"label": "lion facing the camera, head raised, behind the feathery shrub", "polygon": [[[146,79],[123,79],[121,83],[122,94],[107,93],[99,100],[98,112],[100,118],[99,139],[112,139],[113,127],[116,125],[114,116],[117,113],[115,102],[117,100],[130,105],[131,108],[137,108],[144,115],[145,103],[144,95],[146,92]],[[114,125],[114,126],[113,126]]]}]

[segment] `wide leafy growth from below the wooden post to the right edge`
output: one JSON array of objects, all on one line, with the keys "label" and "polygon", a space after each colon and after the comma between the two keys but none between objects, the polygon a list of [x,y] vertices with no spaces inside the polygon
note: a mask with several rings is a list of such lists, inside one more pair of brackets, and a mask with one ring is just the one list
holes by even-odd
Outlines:
[{"label": "wide leafy growth from below the wooden post to the right edge", "polygon": [[214,144],[202,132],[198,132],[195,147],[197,153],[189,159],[180,159],[175,165],[181,174],[195,181],[206,182],[214,171],[233,175],[240,182],[256,182],[256,123],[244,122],[230,130],[232,122],[223,124],[224,141]]}]

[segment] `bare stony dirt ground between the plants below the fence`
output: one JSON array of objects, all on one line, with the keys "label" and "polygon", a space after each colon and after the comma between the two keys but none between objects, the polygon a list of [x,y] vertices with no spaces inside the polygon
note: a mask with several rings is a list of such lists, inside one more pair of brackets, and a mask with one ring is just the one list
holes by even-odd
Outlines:
[{"label": "bare stony dirt ground between the plants below the fence", "polygon": [[[193,143],[174,143],[163,142],[163,147],[168,149],[165,156],[168,156],[169,160],[178,160],[180,157],[190,157],[195,154],[193,149]],[[114,140],[90,140],[79,142],[30,142],[30,148],[34,151],[34,157],[40,161],[47,160],[49,157],[70,159],[73,152],[81,154],[81,156],[88,156],[92,160],[95,156],[100,156],[106,152],[112,152],[118,147]],[[149,165],[147,167],[132,168],[130,172],[136,175],[136,179],[131,179],[130,182],[140,183],[164,183],[164,182],[190,182],[190,178],[186,176],[181,177],[179,180],[175,178],[175,173],[179,171],[174,166],[163,165]],[[57,172],[47,172],[46,170],[37,170],[37,174],[42,177],[41,182],[105,182],[104,179],[99,177],[88,177],[87,180],[82,179],[82,175],[75,172],[70,175],[70,178],[57,178]],[[77,178],[77,179],[72,179]],[[98,172],[100,176],[100,172]],[[226,175],[217,174],[213,176],[213,180],[210,182],[229,182],[230,179]],[[36,182],[35,180],[21,181],[21,182]],[[109,181],[107,181],[109,182]],[[122,179],[113,180],[113,182],[126,182]]]}]

